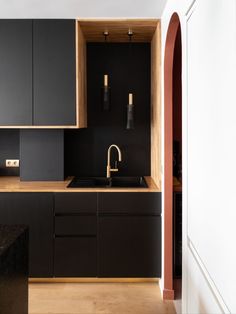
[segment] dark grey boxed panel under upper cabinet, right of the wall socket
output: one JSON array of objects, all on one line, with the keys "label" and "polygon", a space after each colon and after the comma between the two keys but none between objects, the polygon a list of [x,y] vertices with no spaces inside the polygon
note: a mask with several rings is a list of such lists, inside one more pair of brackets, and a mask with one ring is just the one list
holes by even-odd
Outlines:
[{"label": "dark grey boxed panel under upper cabinet, right of the wall socket", "polygon": [[21,181],[64,180],[64,131],[20,131]]}]

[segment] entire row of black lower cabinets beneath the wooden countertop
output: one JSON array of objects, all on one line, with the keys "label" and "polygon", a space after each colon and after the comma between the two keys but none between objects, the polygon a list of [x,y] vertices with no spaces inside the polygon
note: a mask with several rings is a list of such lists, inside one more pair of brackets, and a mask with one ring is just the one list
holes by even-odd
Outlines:
[{"label": "entire row of black lower cabinets beneath the wooden countertop", "polygon": [[0,193],[29,227],[30,277],[160,277],[160,193]]}]

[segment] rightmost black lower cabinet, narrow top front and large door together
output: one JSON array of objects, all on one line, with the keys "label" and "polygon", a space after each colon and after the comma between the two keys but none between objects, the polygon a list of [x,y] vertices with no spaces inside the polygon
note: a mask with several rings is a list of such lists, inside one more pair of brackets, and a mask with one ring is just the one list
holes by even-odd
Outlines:
[{"label": "rightmost black lower cabinet, narrow top front and large door together", "polygon": [[161,276],[161,193],[98,193],[98,276]]}]

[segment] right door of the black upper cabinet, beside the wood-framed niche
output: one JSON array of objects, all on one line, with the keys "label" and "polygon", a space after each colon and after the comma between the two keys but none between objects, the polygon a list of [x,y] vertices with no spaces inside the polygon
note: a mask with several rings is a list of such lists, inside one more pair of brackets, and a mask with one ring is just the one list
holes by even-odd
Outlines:
[{"label": "right door of the black upper cabinet, beside the wood-framed niche", "polygon": [[35,20],[33,38],[34,125],[75,125],[75,21]]}]

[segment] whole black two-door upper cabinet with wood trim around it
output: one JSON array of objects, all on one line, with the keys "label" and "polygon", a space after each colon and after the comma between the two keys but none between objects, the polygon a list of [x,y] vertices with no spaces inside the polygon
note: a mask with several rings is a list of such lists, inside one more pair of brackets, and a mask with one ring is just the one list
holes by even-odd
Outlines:
[{"label": "whole black two-door upper cabinet with wood trim around it", "polygon": [[76,125],[75,20],[0,20],[0,125]]}]

